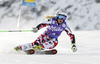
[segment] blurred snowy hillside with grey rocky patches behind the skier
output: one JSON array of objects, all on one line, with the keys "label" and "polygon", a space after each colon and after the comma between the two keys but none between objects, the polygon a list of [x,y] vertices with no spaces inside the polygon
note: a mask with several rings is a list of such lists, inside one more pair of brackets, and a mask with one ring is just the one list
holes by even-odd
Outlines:
[{"label": "blurred snowy hillside with grey rocky patches behind the skier", "polygon": [[[21,1],[0,1],[0,29],[17,29]],[[68,12],[67,23],[73,30],[100,30],[100,4],[95,0],[36,0],[36,4],[38,23],[45,20],[45,15],[54,15],[57,9],[63,8]],[[35,21],[34,8],[23,6],[19,28],[31,29]]]}]

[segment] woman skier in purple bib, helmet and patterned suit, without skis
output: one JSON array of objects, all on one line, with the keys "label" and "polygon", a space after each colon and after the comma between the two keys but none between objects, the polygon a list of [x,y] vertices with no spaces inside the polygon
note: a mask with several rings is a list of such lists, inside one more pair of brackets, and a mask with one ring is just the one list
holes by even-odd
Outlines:
[{"label": "woman skier in purple bib, helmet and patterned suit, without skis", "polygon": [[65,31],[71,39],[72,51],[76,52],[77,48],[75,45],[75,36],[72,34],[70,28],[65,22],[67,18],[67,12],[64,9],[59,9],[56,12],[56,16],[48,19],[47,21],[39,24],[37,27],[33,28],[33,32],[37,33],[43,27],[47,27],[47,30],[41,34],[34,42],[19,45],[15,47],[16,50],[27,50],[38,46],[40,49],[53,49],[58,44],[58,37]]}]

